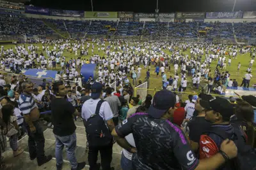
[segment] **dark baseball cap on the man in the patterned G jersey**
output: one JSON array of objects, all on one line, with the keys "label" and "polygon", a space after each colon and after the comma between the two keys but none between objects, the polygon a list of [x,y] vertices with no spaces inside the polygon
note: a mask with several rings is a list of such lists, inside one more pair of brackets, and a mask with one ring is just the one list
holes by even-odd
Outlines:
[{"label": "dark baseball cap on the man in the patterned G jersey", "polygon": [[170,90],[161,90],[156,93],[153,104],[148,109],[148,115],[154,118],[161,118],[170,108],[174,108],[176,96]]}]

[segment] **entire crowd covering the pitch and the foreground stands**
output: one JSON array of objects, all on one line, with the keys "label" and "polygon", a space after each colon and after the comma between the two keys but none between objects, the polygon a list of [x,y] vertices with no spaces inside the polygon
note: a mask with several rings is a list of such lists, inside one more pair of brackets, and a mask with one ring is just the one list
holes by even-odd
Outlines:
[{"label": "entire crowd covering the pitch and the foreground stands", "polygon": [[[64,52],[74,57],[67,60]],[[248,169],[253,165],[252,159],[246,165],[241,155],[250,155],[244,149],[254,145],[256,97],[227,101],[210,94],[223,94],[228,87],[238,86],[228,67],[234,66],[234,60],[241,54],[250,54],[241,82],[250,87],[255,52],[253,46],[102,39],[40,39],[35,44],[10,49],[1,46],[3,70],[10,67],[16,73],[38,67],[61,69],[54,83],[44,80],[36,88],[26,76],[13,76],[6,83],[0,75],[1,152],[6,150],[7,136],[13,156],[18,157],[24,150],[17,140],[27,134],[30,159],[36,159],[38,166],[49,162],[52,156],[44,153],[42,121],[53,129],[56,138],[56,168],[62,169],[62,150],[66,146],[72,169],[83,169],[85,162],[77,163],[75,155],[74,120],[81,118],[86,129],[88,143],[84,141],[84,145],[88,146],[90,169],[113,169],[115,141],[124,148],[122,169]],[[84,81],[79,74],[83,64],[97,64],[97,78],[91,76]],[[243,73],[241,63],[236,67],[237,73]],[[146,77],[142,77],[145,70]],[[167,73],[171,76],[167,77]],[[145,81],[150,85],[152,76],[156,76],[163,90],[155,96],[148,94],[145,101],[134,96],[134,85]],[[70,81],[78,79],[83,83],[70,85]],[[116,90],[111,87],[114,81]],[[205,94],[189,96],[187,101],[175,94],[188,88],[199,89],[202,82],[208,86]],[[218,134],[216,129],[227,134]],[[239,139],[232,138],[234,135]],[[101,164],[97,164],[98,152]],[[241,162],[239,166],[233,165],[234,157]],[[1,167],[5,165],[1,163]]]}]

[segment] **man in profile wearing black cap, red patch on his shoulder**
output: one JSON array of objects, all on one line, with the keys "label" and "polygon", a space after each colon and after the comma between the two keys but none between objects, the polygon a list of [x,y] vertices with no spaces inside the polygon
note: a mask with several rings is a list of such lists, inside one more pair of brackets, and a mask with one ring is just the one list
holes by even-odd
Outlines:
[{"label": "man in profile wearing black cap, red patch on his shoulder", "polygon": [[[200,105],[206,110],[205,120],[211,122],[211,126],[200,136],[199,154],[200,160],[210,158],[220,152],[221,143],[223,142],[222,132],[228,139],[236,139],[237,150],[240,153],[243,150],[246,135],[238,126],[230,124],[230,117],[234,115],[234,107],[224,98],[213,97],[209,101],[200,101]],[[234,169],[233,164],[225,164],[221,169]]]}]

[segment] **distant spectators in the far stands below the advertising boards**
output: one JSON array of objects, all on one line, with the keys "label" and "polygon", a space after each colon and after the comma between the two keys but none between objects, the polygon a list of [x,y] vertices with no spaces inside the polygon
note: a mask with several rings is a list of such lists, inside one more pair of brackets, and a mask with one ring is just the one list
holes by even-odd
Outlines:
[{"label": "distant spectators in the far stands below the advertising boards", "polygon": [[[68,32],[70,38],[84,36],[145,36],[153,39],[170,38],[214,38],[234,39],[234,33],[239,39],[255,37],[255,22],[221,23],[221,22],[123,22],[123,21],[76,21],[52,20],[38,18],[1,17],[0,29],[2,35],[51,35],[54,31]],[[33,25],[33,26],[32,26]],[[111,30],[110,30],[111,29]],[[234,32],[233,32],[234,29]],[[201,31],[201,32],[200,32]]]}]

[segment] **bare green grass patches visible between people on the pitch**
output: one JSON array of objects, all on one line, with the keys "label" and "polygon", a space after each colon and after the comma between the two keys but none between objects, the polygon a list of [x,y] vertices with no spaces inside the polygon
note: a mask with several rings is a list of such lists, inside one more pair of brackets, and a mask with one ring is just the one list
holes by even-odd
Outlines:
[{"label": "bare green grass patches visible between people on the pitch", "polygon": [[[42,52],[42,44],[37,44],[37,45],[39,46],[38,53]],[[14,45],[10,45],[10,44],[4,45],[4,50],[6,50],[8,48],[11,48],[11,47],[14,48]],[[53,48],[53,46],[51,46],[50,48]],[[84,58],[89,59],[90,58],[90,56],[92,55],[91,48],[92,48],[92,45],[90,46],[90,48],[88,50],[89,55],[87,55],[86,57],[82,57],[82,59],[84,59]],[[166,53],[170,53],[170,52],[168,52],[168,50],[165,50],[165,52]],[[99,54],[100,57],[105,55],[102,51],[98,52],[97,45],[95,45],[94,53]],[[190,50],[189,49],[185,53],[188,54],[189,57],[190,57]],[[47,56],[46,53],[44,53],[44,55]],[[70,52],[67,52],[67,50],[65,50],[63,52],[63,56],[65,56],[66,59],[69,60],[70,58],[74,58],[75,57],[75,53],[74,52],[70,53]],[[226,58],[228,59],[228,56],[226,56]],[[237,82],[238,82],[238,85],[241,85],[241,82],[243,80],[243,76],[244,76],[244,74],[246,74],[246,69],[249,66],[250,59],[251,59],[250,53],[246,53],[246,54],[243,54],[243,55],[237,54],[237,59],[232,59],[231,66],[227,66],[226,71],[229,71],[229,73],[231,74],[230,78],[231,79],[236,79]],[[202,61],[204,61],[204,58],[202,59]],[[240,73],[236,73],[237,72],[237,64],[238,64],[238,62],[241,62]],[[212,73],[214,73],[214,68],[216,67],[216,64],[217,64],[217,61],[212,60],[212,64],[211,64],[211,68],[210,68]],[[141,79],[140,80],[144,81],[148,68],[145,69],[144,66],[141,66],[141,68],[142,68],[142,70],[141,70]],[[57,69],[60,69],[60,68],[57,68]],[[180,69],[180,67],[179,67],[179,69]],[[253,67],[252,67],[252,74],[255,73],[255,71],[254,71],[255,69],[256,69],[256,65],[254,64]],[[171,75],[174,76],[174,71],[173,71],[174,68],[173,68],[173,66],[171,66],[171,71],[167,71],[167,70],[166,70],[166,75],[167,75],[168,78]],[[161,90],[162,89],[162,79],[161,79],[161,76],[159,76],[157,78],[156,77],[156,73],[154,73],[154,71],[155,71],[155,66],[151,65],[149,89],[153,89],[154,90],[156,88],[157,90]],[[187,87],[186,92],[198,92],[198,90],[193,89],[191,77],[188,77],[187,80],[188,80],[188,87]],[[131,79],[130,79],[130,82],[132,83]],[[252,86],[254,83],[256,83],[256,80],[255,80],[255,78],[252,78],[252,80],[250,82],[250,85]],[[148,94],[154,94],[153,90],[148,90]],[[182,98],[184,98],[184,97],[182,97]]]}]

